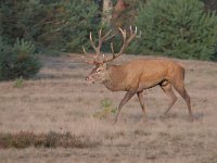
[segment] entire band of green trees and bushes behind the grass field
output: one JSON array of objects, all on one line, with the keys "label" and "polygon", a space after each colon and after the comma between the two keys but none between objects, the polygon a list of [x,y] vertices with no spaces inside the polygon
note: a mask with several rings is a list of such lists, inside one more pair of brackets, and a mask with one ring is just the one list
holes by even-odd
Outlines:
[{"label": "entire band of green trees and bushes behind the grass field", "polygon": [[[110,12],[104,1],[1,0],[0,79],[29,78],[41,67],[39,54],[91,51],[90,32],[130,25],[141,37],[127,53],[217,60],[217,0],[113,0]],[[112,41],[118,49],[119,36]]]}]

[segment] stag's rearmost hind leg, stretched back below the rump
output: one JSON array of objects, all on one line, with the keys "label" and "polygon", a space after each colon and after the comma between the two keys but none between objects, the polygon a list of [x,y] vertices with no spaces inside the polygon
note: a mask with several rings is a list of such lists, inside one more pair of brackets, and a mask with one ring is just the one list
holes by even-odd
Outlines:
[{"label": "stag's rearmost hind leg, stretched back below the rump", "polygon": [[193,114],[192,114],[192,111],[191,111],[190,96],[188,95],[188,92],[184,89],[183,82],[179,80],[179,83],[175,83],[173,86],[179,92],[179,95],[183,98],[183,100],[186,101],[188,110],[189,110],[190,118],[193,120]]}]

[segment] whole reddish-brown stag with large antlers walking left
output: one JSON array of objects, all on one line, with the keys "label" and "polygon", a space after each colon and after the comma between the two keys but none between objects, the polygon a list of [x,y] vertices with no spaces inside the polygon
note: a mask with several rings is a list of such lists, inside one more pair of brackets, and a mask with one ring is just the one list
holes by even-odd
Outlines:
[{"label": "whole reddish-brown stag with large antlers walking left", "polygon": [[[94,45],[92,35],[90,33],[90,41],[95,50],[95,55],[91,60],[82,60],[88,64],[93,64],[94,68],[87,76],[88,83],[101,83],[107,89],[112,91],[127,91],[124,99],[118,105],[117,114],[115,116],[115,122],[117,122],[119,112],[122,108],[137,93],[140,105],[143,111],[143,118],[146,121],[145,106],[143,101],[143,90],[152,88],[154,86],[159,86],[163,91],[170,98],[170,102],[165,115],[168,113],[170,108],[177,101],[177,97],[173,91],[173,87],[180,93],[187,103],[188,111],[191,120],[193,118],[191,112],[190,97],[184,89],[184,68],[171,60],[166,59],[153,59],[153,60],[132,60],[128,63],[122,65],[107,64],[118,58],[125,49],[128,47],[130,41],[137,37],[137,27],[135,30],[130,27],[129,36],[127,37],[126,30],[119,28],[123,37],[123,46],[118,53],[114,52],[113,43],[111,43],[111,49],[113,55],[111,58],[105,58],[101,54],[101,47],[103,41],[112,38],[114,35],[110,35],[111,30],[102,36],[102,29],[99,32],[99,45]],[[87,54],[84,48],[85,54]]]}]

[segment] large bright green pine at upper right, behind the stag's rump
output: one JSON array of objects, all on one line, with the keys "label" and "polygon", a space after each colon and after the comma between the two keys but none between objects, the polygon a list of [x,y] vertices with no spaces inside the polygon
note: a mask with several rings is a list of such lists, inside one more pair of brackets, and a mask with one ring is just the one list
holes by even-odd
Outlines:
[{"label": "large bright green pine at upper right, behind the stag's rump", "polygon": [[150,0],[141,5],[142,30],[135,49],[180,59],[213,60],[217,53],[217,16],[199,0]]}]

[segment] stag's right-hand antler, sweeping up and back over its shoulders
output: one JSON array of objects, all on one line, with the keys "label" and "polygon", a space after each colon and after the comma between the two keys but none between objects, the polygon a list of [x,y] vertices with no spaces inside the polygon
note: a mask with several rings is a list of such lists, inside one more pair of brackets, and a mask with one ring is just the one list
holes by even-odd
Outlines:
[{"label": "stag's right-hand antler, sweeping up and back over its shoulders", "polygon": [[[103,60],[103,63],[106,63],[106,62],[111,62],[113,61],[114,59],[118,58],[119,55],[123,54],[123,52],[125,51],[125,49],[129,46],[130,41],[135,38],[135,37],[138,37],[137,36],[137,26],[135,27],[135,30],[132,30],[132,27],[130,26],[129,27],[130,29],[130,37],[127,39],[127,32],[126,29],[122,29],[119,28],[120,33],[122,33],[122,36],[123,36],[123,46],[119,50],[118,53],[115,54],[114,52],[114,47],[113,47],[113,43],[111,42],[111,50],[112,50],[112,53],[113,53],[113,57],[111,59],[105,59]],[[141,35],[141,32],[140,32],[140,35]]]}]

